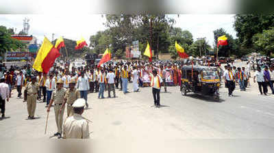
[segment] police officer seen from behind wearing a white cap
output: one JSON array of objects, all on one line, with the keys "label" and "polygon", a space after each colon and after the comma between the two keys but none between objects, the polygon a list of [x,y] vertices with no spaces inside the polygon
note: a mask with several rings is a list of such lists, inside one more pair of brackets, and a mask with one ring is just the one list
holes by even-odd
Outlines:
[{"label": "police officer seen from behind wearing a white cap", "polygon": [[88,121],[82,117],[86,100],[77,99],[73,103],[74,114],[64,121],[64,139],[88,139],[90,137]]}]

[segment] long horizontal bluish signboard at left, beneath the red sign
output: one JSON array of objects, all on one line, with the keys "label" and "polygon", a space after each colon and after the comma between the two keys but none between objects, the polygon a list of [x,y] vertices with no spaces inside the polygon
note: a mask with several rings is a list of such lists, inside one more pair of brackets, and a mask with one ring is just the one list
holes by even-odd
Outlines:
[{"label": "long horizontal bluish signboard at left, beneath the red sign", "polygon": [[21,60],[31,60],[35,57],[35,53],[30,52],[7,52],[5,53],[6,61],[21,61]]}]

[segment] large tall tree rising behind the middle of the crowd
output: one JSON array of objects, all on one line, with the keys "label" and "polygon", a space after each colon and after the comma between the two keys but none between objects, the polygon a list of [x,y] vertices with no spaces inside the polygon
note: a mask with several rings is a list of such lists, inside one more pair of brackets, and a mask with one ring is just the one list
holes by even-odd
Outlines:
[{"label": "large tall tree rising behind the middle of the crowd", "polygon": [[134,40],[139,40],[142,46],[149,42],[156,55],[168,51],[169,29],[175,22],[173,18],[166,15],[148,14],[105,15],[105,18],[105,26],[110,31],[108,36],[112,40],[114,52],[118,49],[125,51],[125,47],[131,45]]}]

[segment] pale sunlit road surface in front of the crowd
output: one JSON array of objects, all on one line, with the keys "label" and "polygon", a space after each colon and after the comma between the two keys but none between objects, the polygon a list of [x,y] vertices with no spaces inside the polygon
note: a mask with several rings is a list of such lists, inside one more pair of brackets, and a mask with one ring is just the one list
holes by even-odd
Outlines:
[{"label": "pale sunlit road surface in front of the crowd", "polygon": [[[221,88],[220,102],[191,93],[182,96],[179,87],[168,87],[167,93],[160,93],[160,108],[153,107],[151,87],[126,95],[116,90],[118,98],[97,99],[97,93],[88,94],[92,108],[83,115],[92,120],[90,136],[95,140],[274,138],[274,96],[258,95],[258,85],[252,82],[247,92],[240,92],[237,86],[234,97]],[[48,139],[56,133],[53,109],[45,135],[45,103],[38,102],[36,120],[26,120],[26,102],[16,99],[16,90],[12,93],[6,118],[0,120],[2,140]]]}]

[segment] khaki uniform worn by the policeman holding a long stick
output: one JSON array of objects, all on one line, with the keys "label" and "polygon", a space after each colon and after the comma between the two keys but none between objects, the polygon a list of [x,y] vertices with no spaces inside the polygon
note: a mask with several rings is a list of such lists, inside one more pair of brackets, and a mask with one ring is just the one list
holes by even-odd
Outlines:
[{"label": "khaki uniform worn by the policeman holding a long stick", "polygon": [[[60,83],[60,81],[57,83]],[[54,102],[55,122],[58,128],[58,133],[62,133],[64,109],[62,109],[61,113],[60,109],[62,107],[62,103],[64,102],[65,94],[66,89],[62,87],[61,89],[55,89],[51,96],[51,100]]]}]

